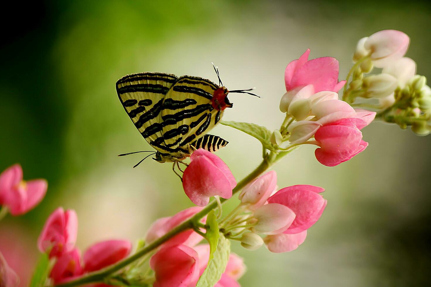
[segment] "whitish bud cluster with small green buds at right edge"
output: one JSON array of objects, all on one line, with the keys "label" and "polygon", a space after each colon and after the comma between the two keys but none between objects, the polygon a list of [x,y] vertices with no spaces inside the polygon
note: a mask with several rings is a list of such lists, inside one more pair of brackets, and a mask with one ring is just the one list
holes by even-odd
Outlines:
[{"label": "whitish bud cluster with small green buds at right edge", "polygon": [[[431,88],[425,76],[415,75],[415,61],[404,56],[409,42],[406,34],[396,30],[378,31],[360,39],[353,55],[352,81],[343,99],[348,103],[360,97],[377,99],[377,105],[356,105],[381,110],[379,119],[403,129],[411,126],[415,134],[427,135],[431,129]],[[374,67],[382,68],[381,73],[366,75]]]}]

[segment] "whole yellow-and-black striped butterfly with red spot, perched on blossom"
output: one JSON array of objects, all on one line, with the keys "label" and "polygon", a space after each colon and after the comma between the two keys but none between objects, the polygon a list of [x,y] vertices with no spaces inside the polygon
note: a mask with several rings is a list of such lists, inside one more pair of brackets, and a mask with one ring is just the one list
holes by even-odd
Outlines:
[{"label": "whole yellow-and-black striped butterfly with red spot, perched on blossom", "polygon": [[[223,86],[218,69],[214,69],[219,84],[200,77],[159,72],[125,75],[117,81],[117,94],[125,111],[156,150],[148,156],[155,155],[157,162],[173,162],[174,169],[194,149],[214,152],[228,144],[221,137],[206,134],[220,122],[225,109],[233,106],[228,94],[257,95],[247,92],[252,89],[229,91]],[[128,154],[132,153],[120,156]]]}]

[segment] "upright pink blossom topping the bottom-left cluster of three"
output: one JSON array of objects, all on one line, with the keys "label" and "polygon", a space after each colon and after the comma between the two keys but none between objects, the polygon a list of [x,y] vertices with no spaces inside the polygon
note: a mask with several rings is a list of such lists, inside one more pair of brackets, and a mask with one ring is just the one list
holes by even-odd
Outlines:
[{"label": "upright pink blossom topping the bottom-left cluster of three", "polygon": [[49,252],[50,258],[59,257],[73,249],[77,235],[78,217],[75,210],[64,211],[59,207],[45,222],[37,247],[41,252]]}]

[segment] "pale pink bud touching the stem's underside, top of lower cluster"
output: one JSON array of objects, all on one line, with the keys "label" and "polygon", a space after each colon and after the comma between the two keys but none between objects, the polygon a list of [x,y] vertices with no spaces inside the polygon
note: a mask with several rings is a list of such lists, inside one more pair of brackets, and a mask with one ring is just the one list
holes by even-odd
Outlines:
[{"label": "pale pink bud touching the stem's underside, top of lower cluster", "polygon": [[277,173],[272,170],[247,184],[238,196],[248,209],[256,210],[264,205],[277,185]]}]

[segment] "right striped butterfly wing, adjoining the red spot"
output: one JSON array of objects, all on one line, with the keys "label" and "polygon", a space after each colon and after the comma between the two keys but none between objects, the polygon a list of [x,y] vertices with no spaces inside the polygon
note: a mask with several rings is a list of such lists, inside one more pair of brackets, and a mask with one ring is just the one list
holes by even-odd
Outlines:
[{"label": "right striped butterfly wing, adjoining the red spot", "polygon": [[222,117],[212,107],[212,96],[220,86],[212,81],[182,76],[171,87],[162,106],[163,138],[166,147],[185,147],[210,131]]}]

